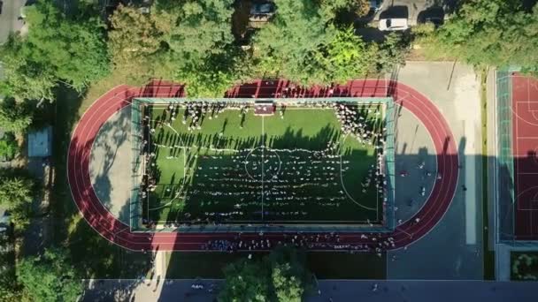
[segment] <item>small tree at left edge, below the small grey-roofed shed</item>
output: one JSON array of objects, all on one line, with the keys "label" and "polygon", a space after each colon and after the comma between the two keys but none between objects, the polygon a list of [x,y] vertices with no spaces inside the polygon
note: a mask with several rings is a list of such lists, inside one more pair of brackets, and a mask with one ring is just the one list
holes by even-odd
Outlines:
[{"label": "small tree at left edge, below the small grey-roofed shed", "polygon": [[0,206],[9,211],[12,223],[19,229],[29,223],[35,194],[34,178],[16,170],[3,171],[0,175]]}]

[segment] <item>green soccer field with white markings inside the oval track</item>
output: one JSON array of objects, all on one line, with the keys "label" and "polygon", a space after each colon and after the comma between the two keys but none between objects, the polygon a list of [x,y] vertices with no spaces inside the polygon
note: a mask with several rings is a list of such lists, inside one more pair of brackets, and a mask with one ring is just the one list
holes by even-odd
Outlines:
[{"label": "green soccer field with white markings inside the oval track", "polygon": [[[380,149],[344,134],[333,108],[288,107],[265,117],[224,109],[203,114],[201,129],[189,129],[193,120],[183,117],[184,108],[174,119],[165,108],[154,106],[150,114],[156,185],[142,200],[145,219],[380,223],[382,190],[361,184],[375,174]],[[381,105],[352,108],[368,129],[382,132]]]}]

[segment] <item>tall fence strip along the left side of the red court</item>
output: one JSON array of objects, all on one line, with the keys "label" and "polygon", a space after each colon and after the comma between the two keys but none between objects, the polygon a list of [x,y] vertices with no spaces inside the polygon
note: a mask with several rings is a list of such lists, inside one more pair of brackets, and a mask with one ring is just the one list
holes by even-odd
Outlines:
[{"label": "tall fence strip along the left side of the red court", "polygon": [[497,102],[497,228],[499,239],[514,236],[514,159],[512,152],[511,72],[496,72]]}]

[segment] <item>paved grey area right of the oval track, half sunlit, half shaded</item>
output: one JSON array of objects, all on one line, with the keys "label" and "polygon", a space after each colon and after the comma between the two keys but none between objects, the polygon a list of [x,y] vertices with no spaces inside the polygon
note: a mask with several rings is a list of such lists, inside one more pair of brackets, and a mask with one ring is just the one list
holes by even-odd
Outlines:
[{"label": "paved grey area right of the oval track, half sunlit, half shaded", "polygon": [[407,62],[393,78],[419,90],[442,112],[450,124],[463,169],[457,193],[442,220],[425,238],[406,250],[388,254],[388,278],[481,279],[481,133],[477,76],[472,67],[463,64]]}]

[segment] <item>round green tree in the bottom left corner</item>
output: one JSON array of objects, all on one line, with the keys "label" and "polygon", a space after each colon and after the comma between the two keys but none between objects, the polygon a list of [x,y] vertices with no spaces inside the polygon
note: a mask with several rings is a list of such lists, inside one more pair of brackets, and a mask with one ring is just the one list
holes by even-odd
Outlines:
[{"label": "round green tree in the bottom left corner", "polygon": [[35,301],[76,301],[83,291],[81,276],[62,248],[21,260],[17,277],[24,293]]}]

